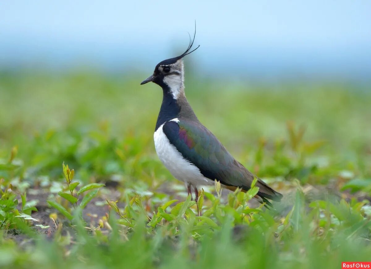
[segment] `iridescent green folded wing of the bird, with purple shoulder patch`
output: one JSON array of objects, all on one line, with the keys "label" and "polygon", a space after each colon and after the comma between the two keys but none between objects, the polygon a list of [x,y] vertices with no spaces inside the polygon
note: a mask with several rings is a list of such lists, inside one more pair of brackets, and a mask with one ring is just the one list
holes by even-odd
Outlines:
[{"label": "iridescent green folded wing of the bird, with purple shoulder patch", "polygon": [[[168,121],[162,127],[170,143],[200,169],[201,174],[211,180],[218,180],[229,187],[247,191],[255,176],[224,148],[220,141],[200,122],[180,119]],[[280,200],[282,194],[274,191],[258,179],[258,195],[271,200]]]}]

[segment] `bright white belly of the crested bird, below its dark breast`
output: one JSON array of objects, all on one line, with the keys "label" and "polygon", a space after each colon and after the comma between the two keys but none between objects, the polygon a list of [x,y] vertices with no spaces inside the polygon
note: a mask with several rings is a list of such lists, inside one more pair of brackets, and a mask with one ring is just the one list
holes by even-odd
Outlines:
[{"label": "bright white belly of the crested bird, below its dark breast", "polygon": [[[174,119],[173,121],[176,121]],[[205,178],[200,169],[193,163],[184,159],[180,152],[172,145],[164,132],[162,131],[162,124],[154,133],[155,148],[161,162],[166,166],[170,173],[178,180],[185,183],[190,183],[197,187],[198,185],[214,184],[208,178]]]}]

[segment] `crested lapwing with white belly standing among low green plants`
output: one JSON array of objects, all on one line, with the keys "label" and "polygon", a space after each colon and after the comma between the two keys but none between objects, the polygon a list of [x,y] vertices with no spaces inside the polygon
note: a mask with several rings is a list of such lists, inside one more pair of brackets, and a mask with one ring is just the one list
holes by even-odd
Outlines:
[{"label": "crested lapwing with white belly standing among low green plants", "polygon": [[[237,188],[246,192],[255,178],[238,162],[198,119],[188,103],[184,92],[184,56],[191,54],[196,37],[196,25],[193,39],[183,54],[159,62],[153,74],[141,82],[141,85],[154,82],[162,88],[162,104],[157,117],[154,143],[158,157],[170,173],[187,187],[188,195],[195,193],[198,201],[198,188],[203,185],[220,185],[231,191]],[[259,191],[255,198],[265,205],[269,200],[280,201],[282,194],[257,178]],[[200,211],[198,209],[198,214]]]}]

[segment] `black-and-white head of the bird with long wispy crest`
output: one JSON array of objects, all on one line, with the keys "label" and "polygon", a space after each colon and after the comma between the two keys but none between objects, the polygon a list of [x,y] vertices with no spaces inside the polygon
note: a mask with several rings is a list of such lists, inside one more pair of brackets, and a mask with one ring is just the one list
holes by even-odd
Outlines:
[{"label": "black-and-white head of the bird with long wispy crest", "polygon": [[141,85],[152,81],[157,85],[160,85],[163,89],[169,90],[171,94],[173,94],[174,99],[177,99],[181,91],[184,90],[183,57],[190,54],[191,52],[196,51],[196,49],[198,49],[198,47],[200,46],[198,45],[197,48],[191,51],[195,36],[196,27],[193,39],[191,39],[190,37],[190,42],[185,52],[177,57],[159,62],[155,67],[153,75],[142,81]]}]

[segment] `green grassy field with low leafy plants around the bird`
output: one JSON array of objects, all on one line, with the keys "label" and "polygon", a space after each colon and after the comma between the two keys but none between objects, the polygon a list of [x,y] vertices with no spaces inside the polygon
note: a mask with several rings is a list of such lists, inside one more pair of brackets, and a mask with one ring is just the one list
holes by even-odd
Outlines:
[{"label": "green grassy field with low leafy plants around the bird", "polygon": [[216,183],[204,188],[198,216],[156,156],[162,96],[156,85],[139,85],[145,77],[0,73],[2,268],[371,261],[369,85],[249,84],[187,73],[200,121],[285,196],[269,211],[251,199],[256,188],[232,193]]}]

